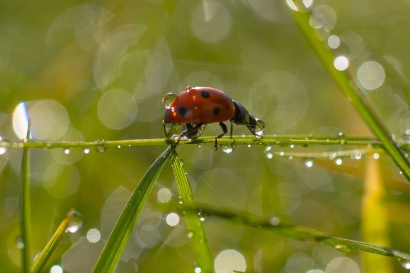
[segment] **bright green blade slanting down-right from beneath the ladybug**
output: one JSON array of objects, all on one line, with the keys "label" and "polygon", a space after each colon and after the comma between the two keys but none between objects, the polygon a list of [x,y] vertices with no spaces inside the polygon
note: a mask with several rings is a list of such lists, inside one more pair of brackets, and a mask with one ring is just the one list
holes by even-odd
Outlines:
[{"label": "bright green blade slanting down-right from beneath the ladybug", "polygon": [[188,237],[190,237],[191,240],[196,265],[201,268],[201,272],[214,272],[211,251],[209,250],[208,240],[203,230],[202,222],[198,217],[198,210],[195,205],[191,186],[175,149],[172,149],[171,157],[176,185],[182,199],[182,206],[188,225]]}]

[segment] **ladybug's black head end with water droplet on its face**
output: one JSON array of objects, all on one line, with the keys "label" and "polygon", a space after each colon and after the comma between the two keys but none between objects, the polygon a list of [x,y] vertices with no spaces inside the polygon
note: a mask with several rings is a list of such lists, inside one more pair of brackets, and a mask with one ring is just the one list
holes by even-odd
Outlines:
[{"label": "ladybug's black head end with water droplet on its face", "polygon": [[262,138],[265,132],[265,123],[256,119],[243,105],[234,101],[235,115],[231,121],[238,125],[245,125],[257,137]]}]

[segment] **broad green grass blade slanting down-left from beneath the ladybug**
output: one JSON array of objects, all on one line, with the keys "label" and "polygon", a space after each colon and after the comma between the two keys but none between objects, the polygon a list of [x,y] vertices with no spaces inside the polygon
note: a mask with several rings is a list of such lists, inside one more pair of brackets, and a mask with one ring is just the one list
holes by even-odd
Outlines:
[{"label": "broad green grass blade slanting down-left from beneath the ladybug", "polygon": [[122,210],[121,216],[115,224],[115,227],[104,246],[103,252],[101,252],[98,261],[95,264],[93,272],[114,271],[122,251],[124,251],[124,248],[127,245],[135,223],[137,222],[139,213],[147,201],[148,194],[150,193],[163,165],[168,160],[170,153],[171,147],[168,147],[161,155],[159,155],[138,183],[138,186],[132,193],[126,207]]}]

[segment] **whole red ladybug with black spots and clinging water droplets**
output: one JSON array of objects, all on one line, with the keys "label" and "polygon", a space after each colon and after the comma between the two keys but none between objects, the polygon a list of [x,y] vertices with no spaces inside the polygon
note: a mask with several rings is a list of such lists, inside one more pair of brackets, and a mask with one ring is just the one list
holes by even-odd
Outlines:
[{"label": "whole red ladybug with black spots and clinging water droplets", "polygon": [[[172,100],[172,101],[171,101]],[[187,87],[179,95],[166,94],[162,103],[167,110],[163,117],[164,131],[169,139],[197,139],[208,123],[219,122],[222,133],[215,136],[215,150],[218,139],[228,133],[224,121],[245,125],[256,136],[262,138],[265,131],[263,121],[256,119],[240,103],[229,95],[212,87]],[[179,126],[178,126],[179,125]]]}]

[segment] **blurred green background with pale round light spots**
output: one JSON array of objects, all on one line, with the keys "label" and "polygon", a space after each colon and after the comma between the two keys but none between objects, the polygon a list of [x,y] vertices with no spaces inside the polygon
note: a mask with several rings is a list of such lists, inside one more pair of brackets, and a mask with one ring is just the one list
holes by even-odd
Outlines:
[{"label": "blurred green background with pale round light spots", "polygon": [[[410,126],[410,5],[305,3],[316,16],[312,26],[322,30],[319,38],[347,58],[348,70],[388,130],[401,135]],[[23,138],[20,103],[26,102],[36,140],[163,138],[162,96],[190,85],[225,91],[266,123],[265,134],[371,136],[304,41],[291,6],[284,0],[2,1],[0,134],[15,142]],[[212,124],[203,135],[219,133]],[[234,134],[242,133],[249,131],[234,127]],[[83,215],[83,228],[65,237],[45,270],[90,271],[132,190],[164,149],[120,147],[88,154],[74,148],[68,154],[31,149],[32,256],[73,207]],[[272,147],[339,149],[347,148]],[[198,202],[275,216],[347,239],[377,243],[381,238],[385,246],[410,252],[410,187],[385,154],[376,162],[363,156],[341,165],[318,160],[308,168],[301,160],[267,159],[258,146],[237,146],[231,154],[215,152],[213,145],[177,150]],[[19,270],[21,155],[20,149],[10,149],[0,156],[4,272]],[[381,173],[378,180],[386,186],[379,185],[380,200],[387,213],[380,214],[386,224],[381,235],[363,239],[366,170]],[[167,163],[118,272],[193,271],[185,223],[169,226],[167,213],[155,209],[170,193],[178,197]],[[231,264],[247,272],[365,271],[361,252],[345,254],[213,217],[203,223],[219,269]],[[399,262],[376,258],[389,270],[404,270]]]}]

